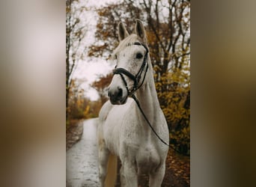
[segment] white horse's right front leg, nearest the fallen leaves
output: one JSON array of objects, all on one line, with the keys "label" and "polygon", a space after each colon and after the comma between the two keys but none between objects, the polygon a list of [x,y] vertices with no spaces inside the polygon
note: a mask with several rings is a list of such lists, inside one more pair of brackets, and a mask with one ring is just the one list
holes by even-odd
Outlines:
[{"label": "white horse's right front leg, nearest the fallen leaves", "polygon": [[165,177],[165,162],[156,169],[156,171],[150,172],[150,187],[160,187],[162,180]]}]

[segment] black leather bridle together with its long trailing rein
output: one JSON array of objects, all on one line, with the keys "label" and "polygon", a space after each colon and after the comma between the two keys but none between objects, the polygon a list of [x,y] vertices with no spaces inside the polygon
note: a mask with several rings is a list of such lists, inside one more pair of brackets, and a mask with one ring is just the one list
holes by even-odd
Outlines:
[{"label": "black leather bridle together with its long trailing rein", "polygon": [[[146,49],[146,54],[144,55],[143,63],[142,63],[142,65],[141,65],[141,68],[138,70],[138,73],[137,73],[135,76],[133,76],[132,73],[129,73],[129,71],[125,70],[124,68],[115,68],[115,70],[113,70],[114,75],[115,75],[115,74],[118,74],[118,75],[121,76],[121,79],[123,80],[124,85],[125,85],[125,87],[127,88],[128,96],[131,96],[132,99],[134,99],[134,101],[136,102],[136,105],[138,106],[139,111],[141,111],[141,114],[142,114],[143,117],[144,117],[144,120],[147,121],[148,126],[150,126],[150,129],[153,131],[153,133],[156,135],[156,137],[159,138],[159,140],[162,141],[163,144],[167,145],[167,146],[170,147],[171,149],[177,151],[177,152],[180,153],[180,154],[189,156],[189,154],[181,153],[180,150],[175,149],[174,147],[171,146],[171,144],[167,144],[165,141],[162,140],[162,138],[159,137],[159,135],[156,133],[155,129],[153,129],[153,126],[151,125],[150,121],[147,119],[146,114],[144,114],[144,111],[142,110],[141,105],[140,105],[138,99],[137,99],[136,96],[133,94],[135,91],[138,90],[138,88],[141,88],[141,85],[143,85],[143,83],[144,83],[144,79],[145,79],[145,77],[146,77],[147,69],[148,69],[148,64],[147,64],[148,49],[147,49],[147,46],[146,46],[144,43],[139,43],[139,42],[135,42],[135,43],[132,43],[132,44],[131,44],[131,43],[128,43],[128,46],[131,46],[131,45],[144,46],[144,48]],[[141,74],[143,73],[143,70],[144,70],[144,67],[145,67],[145,66],[146,66],[146,70],[145,70],[145,73],[144,73],[144,78],[143,78],[141,84],[138,85],[138,83],[140,82],[140,79],[141,79]],[[126,80],[124,79],[124,75],[123,75],[123,74],[126,75],[126,76],[128,76],[129,79],[132,79],[132,80],[133,80],[134,85],[133,85],[132,91],[129,91],[127,82],[126,82]]]}]

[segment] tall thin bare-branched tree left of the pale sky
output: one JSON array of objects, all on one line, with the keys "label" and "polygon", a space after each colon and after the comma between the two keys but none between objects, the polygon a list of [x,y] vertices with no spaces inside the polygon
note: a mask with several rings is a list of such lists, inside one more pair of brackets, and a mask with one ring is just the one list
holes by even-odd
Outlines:
[{"label": "tall thin bare-branched tree left of the pale sky", "polygon": [[69,95],[72,73],[76,64],[84,55],[82,39],[85,37],[87,28],[82,22],[81,14],[87,10],[79,6],[77,0],[66,0],[66,119],[69,111]]}]

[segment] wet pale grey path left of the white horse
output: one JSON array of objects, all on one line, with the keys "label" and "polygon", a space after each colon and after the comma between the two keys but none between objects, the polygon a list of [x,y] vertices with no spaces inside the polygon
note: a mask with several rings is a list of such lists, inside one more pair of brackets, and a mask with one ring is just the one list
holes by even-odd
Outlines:
[{"label": "wet pale grey path left of the white horse", "polygon": [[97,118],[83,122],[84,131],[80,141],[67,150],[67,187],[98,187]]}]

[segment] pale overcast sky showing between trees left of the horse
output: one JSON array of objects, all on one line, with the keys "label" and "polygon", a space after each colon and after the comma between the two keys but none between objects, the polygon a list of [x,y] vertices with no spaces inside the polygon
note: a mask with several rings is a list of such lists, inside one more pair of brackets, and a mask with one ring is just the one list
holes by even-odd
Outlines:
[{"label": "pale overcast sky showing between trees left of the horse", "polygon": [[[86,7],[100,7],[111,2],[117,2],[117,0],[80,1],[80,4]],[[96,31],[97,25],[97,13],[93,10],[90,10],[83,14],[81,19],[83,19],[83,17],[85,25],[87,25],[89,28],[83,40],[83,45],[86,48],[95,42],[94,33]],[[72,77],[73,79],[82,80],[82,84],[79,85],[79,88],[85,91],[85,96],[91,100],[97,100],[99,99],[98,93],[94,88],[90,87],[90,84],[97,80],[100,75],[106,75],[110,73],[113,67],[114,65],[109,64],[104,58],[85,57],[85,59],[78,62]]]}]

